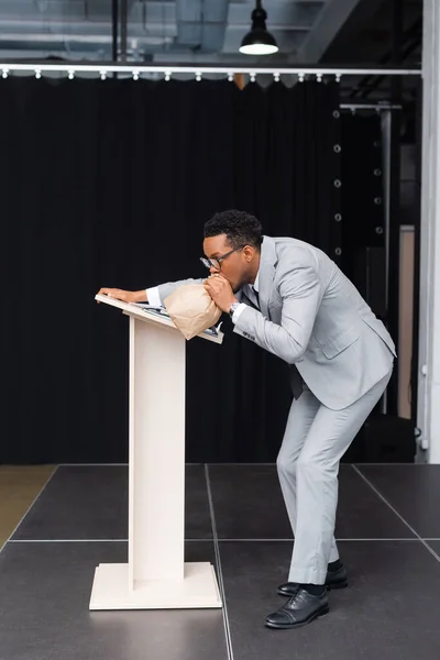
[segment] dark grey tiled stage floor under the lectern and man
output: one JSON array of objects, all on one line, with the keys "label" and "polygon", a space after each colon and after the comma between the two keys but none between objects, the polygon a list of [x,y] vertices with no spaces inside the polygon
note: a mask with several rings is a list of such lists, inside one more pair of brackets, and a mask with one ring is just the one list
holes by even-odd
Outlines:
[{"label": "dark grey tiled stage floor under the lectern and man", "polygon": [[0,553],[0,660],[231,660],[229,642],[233,660],[438,660],[440,561],[419,536],[439,539],[427,542],[440,557],[440,466],[358,470],[340,475],[350,587],[328,616],[276,631],[264,617],[283,603],[292,541],[274,539],[292,534],[275,465],[210,465],[209,484],[187,466],[186,536],[198,540],[186,558],[221,569],[223,610],[113,613],[88,602],[96,565],[127,559],[127,468],[59,468]]}]

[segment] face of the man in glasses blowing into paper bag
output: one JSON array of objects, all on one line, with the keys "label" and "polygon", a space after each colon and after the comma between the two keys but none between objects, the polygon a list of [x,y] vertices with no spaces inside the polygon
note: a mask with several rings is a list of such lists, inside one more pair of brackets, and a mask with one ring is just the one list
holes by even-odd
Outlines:
[{"label": "face of the man in glasses blowing into paper bag", "polygon": [[[210,237],[204,241],[204,252],[208,258],[216,260],[222,257],[233,250],[232,245],[227,242],[226,234]],[[220,258],[220,268],[210,268],[210,273],[220,273],[230,283],[232,290],[238,292],[249,278],[249,251],[254,251],[249,245],[242,250],[235,250],[226,258]]]}]

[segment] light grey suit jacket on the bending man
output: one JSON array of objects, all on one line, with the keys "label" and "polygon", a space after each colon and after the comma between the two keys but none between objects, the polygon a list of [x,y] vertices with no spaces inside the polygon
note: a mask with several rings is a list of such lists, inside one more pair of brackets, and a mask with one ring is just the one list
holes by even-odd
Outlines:
[{"label": "light grey suit jacket on the bending man", "polygon": [[[161,300],[183,284],[202,282],[163,284]],[[385,326],[321,250],[264,237],[258,287],[261,311],[249,306],[234,332],[293,366],[294,393],[300,376],[324,406],[340,410],[393,367],[396,351]],[[246,301],[243,292],[238,298]]]}]

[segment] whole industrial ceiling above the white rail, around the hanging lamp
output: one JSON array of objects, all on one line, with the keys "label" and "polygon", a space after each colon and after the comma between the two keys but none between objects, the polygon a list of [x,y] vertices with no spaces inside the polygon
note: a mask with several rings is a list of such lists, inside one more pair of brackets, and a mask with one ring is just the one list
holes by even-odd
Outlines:
[{"label": "whole industrial ceiling above the white rail, around the hanging lamp", "polygon": [[[267,29],[275,35],[279,53],[250,58],[238,50],[250,30],[254,0],[125,1],[129,62],[294,66],[329,57],[338,63],[360,63],[366,57],[373,63],[381,50],[381,29],[391,32],[389,11],[382,10],[381,15],[381,7],[391,4],[391,0],[263,0]],[[405,4],[416,8],[411,12],[417,13],[421,0],[405,0]],[[367,20],[355,20],[365,8]],[[112,0],[0,0],[0,58],[110,61],[111,11]],[[406,20],[413,20],[409,12]],[[362,47],[358,38],[361,29]],[[341,38],[346,44],[350,36],[351,54],[346,46],[341,50]]]}]

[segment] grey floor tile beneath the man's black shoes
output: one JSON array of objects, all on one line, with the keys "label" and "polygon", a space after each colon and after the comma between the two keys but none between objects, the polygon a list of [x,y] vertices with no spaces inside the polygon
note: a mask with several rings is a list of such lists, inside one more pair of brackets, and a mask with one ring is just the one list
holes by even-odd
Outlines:
[{"label": "grey floor tile beneath the man's black shoes", "polygon": [[[439,658],[440,562],[419,541],[341,542],[350,587],[330,594],[330,614],[298,630],[268,630],[283,604],[288,543],[221,542],[232,648],[240,660]],[[294,653],[294,654],[293,654]]]}]

